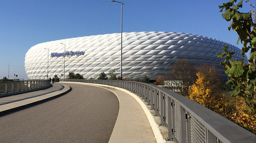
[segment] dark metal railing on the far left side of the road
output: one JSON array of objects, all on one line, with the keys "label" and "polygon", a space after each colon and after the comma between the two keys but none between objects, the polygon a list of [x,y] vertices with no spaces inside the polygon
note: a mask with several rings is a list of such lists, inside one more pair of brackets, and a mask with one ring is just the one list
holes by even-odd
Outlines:
[{"label": "dark metal railing on the far left side of the road", "polygon": [[13,93],[50,86],[50,80],[1,81],[0,93]]}]

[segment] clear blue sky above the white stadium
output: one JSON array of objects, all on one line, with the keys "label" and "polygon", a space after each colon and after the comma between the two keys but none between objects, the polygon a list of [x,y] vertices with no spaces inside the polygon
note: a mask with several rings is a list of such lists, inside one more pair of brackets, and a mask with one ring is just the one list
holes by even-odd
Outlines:
[{"label": "clear blue sky above the white stadium", "polygon": [[[123,32],[183,32],[236,45],[238,36],[218,8],[228,1],[123,0]],[[249,10],[244,0],[241,11]],[[10,79],[28,78],[24,59],[33,45],[119,32],[121,4],[110,0],[0,0],[0,79],[8,77],[8,65]]]}]

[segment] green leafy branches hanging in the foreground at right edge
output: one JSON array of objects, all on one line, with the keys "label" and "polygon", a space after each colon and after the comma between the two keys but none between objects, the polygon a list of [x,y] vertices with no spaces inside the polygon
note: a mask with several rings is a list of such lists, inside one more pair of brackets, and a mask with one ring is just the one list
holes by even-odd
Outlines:
[{"label": "green leafy branches hanging in the foreground at right edge", "polygon": [[[252,13],[255,11],[243,13],[239,12],[238,9],[242,8],[242,0],[235,5],[237,0],[231,0],[223,5],[219,5],[220,12],[225,12],[222,17],[227,21],[232,21],[232,24],[228,27],[237,32],[239,38],[237,44],[240,41],[243,44],[241,54],[245,55],[249,50],[250,57],[248,59],[249,64],[244,62],[244,59],[235,60],[232,55],[234,51],[228,50],[227,46],[223,47],[223,53],[217,53],[219,58],[225,57],[225,60],[220,64],[224,67],[225,73],[230,77],[230,81],[233,84],[233,91],[230,92],[231,96],[241,96],[245,99],[245,103],[250,106],[245,113],[256,111],[256,77],[255,77],[255,59],[256,59],[256,24],[255,16],[254,22],[252,19]],[[246,1],[247,2],[247,1]],[[251,5],[252,8],[252,5]]]}]

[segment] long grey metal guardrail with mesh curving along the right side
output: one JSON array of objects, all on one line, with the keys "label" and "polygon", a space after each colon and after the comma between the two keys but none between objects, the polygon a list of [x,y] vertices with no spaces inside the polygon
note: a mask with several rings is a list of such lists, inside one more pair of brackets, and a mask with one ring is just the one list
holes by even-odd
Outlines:
[{"label": "long grey metal guardrail with mesh curving along the right side", "polygon": [[[60,81],[63,81],[61,79]],[[168,128],[167,140],[176,143],[255,143],[256,135],[204,106],[152,84],[132,81],[65,79],[121,87],[144,99]]]}]

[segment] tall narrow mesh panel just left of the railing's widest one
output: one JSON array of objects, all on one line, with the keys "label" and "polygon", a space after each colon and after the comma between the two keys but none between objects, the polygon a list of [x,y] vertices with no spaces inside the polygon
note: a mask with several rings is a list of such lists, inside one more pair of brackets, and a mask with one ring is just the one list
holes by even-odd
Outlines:
[{"label": "tall narrow mesh panel just left of the railing's widest one", "polygon": [[180,104],[176,103],[174,104],[175,109],[175,135],[176,142],[180,143],[181,141],[181,133],[180,133]]}]

